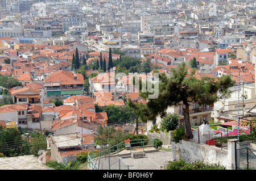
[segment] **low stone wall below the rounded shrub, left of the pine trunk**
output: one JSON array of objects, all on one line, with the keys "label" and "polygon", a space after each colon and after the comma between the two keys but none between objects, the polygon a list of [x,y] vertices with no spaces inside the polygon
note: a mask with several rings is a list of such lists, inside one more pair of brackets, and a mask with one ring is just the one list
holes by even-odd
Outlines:
[{"label": "low stone wall below the rounded shrub, left of the pine trunk", "polygon": [[159,131],[159,133],[156,133],[155,131],[153,133],[147,131],[148,138],[158,138],[163,142],[163,145],[171,145],[173,134],[174,134],[174,131],[169,131],[169,132]]}]

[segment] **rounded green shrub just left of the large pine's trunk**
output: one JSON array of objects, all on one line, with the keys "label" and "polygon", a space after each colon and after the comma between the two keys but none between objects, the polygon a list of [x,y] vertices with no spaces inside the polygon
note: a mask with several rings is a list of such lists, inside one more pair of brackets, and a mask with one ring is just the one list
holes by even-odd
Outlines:
[{"label": "rounded green shrub just left of the large pine's trunk", "polygon": [[163,117],[160,123],[160,130],[162,131],[173,131],[179,125],[179,115],[176,113],[168,113]]}]

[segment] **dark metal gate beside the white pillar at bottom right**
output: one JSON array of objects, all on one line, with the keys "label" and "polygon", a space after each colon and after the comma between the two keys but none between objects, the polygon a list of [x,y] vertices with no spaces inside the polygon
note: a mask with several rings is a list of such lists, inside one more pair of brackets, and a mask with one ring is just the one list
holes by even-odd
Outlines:
[{"label": "dark metal gate beside the white pillar at bottom right", "polygon": [[236,170],[256,170],[256,150],[236,142]]}]

